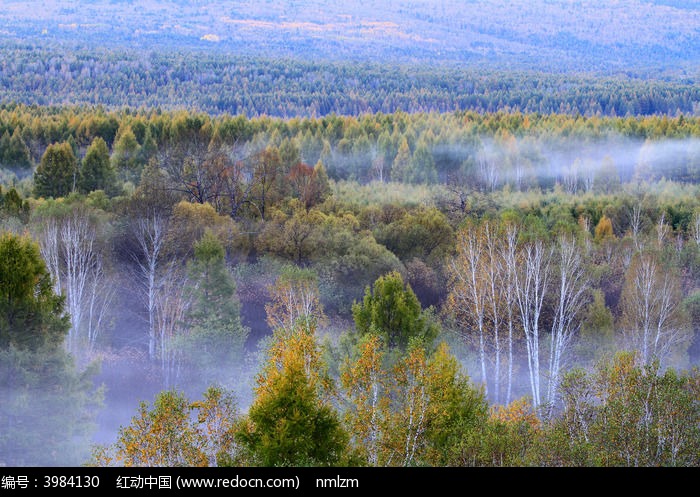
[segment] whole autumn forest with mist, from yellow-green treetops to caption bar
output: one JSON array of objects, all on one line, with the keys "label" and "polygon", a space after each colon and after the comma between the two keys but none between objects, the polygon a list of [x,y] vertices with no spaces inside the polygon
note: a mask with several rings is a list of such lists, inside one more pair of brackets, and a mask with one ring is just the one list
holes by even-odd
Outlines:
[{"label": "whole autumn forest with mist, from yellow-green treetops to caption bar", "polygon": [[5,464],[698,464],[696,117],[0,133]]}]

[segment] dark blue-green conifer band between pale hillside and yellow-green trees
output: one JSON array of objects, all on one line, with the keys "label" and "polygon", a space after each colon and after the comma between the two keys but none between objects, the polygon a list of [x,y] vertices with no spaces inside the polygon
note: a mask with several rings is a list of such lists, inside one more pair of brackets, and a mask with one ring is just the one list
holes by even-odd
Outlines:
[{"label": "dark blue-green conifer band between pale hillside and yellow-green trees", "polygon": [[278,118],[403,111],[699,116],[691,77],[311,61],[187,49],[0,46],[0,103]]}]

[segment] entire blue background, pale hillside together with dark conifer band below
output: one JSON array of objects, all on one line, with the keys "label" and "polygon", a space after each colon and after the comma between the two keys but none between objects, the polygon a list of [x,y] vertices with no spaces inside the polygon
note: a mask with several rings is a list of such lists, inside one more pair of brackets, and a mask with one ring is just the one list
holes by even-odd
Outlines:
[{"label": "entire blue background, pale hillside together with dark conifer band below", "polygon": [[700,115],[697,0],[12,0],[0,103]]}]

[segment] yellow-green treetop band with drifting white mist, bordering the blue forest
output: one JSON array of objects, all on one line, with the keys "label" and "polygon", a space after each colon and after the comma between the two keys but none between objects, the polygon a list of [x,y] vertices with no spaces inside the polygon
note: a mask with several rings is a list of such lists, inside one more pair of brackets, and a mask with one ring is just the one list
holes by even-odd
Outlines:
[{"label": "yellow-green treetop band with drifting white mist, bordering the blue forest", "polygon": [[[551,189],[560,184],[572,192],[610,191],[631,179],[696,183],[699,137],[700,121],[685,115],[397,111],[283,120],[185,110],[0,106],[4,174],[33,174],[34,166],[55,156],[55,147],[66,143],[76,162],[64,171],[66,177],[72,175],[70,180],[55,185],[62,194],[74,189],[116,194],[125,184],[137,184],[143,169],[155,160],[171,180],[183,183],[182,188],[191,184],[188,174],[198,176],[197,188],[209,190],[190,192],[200,201],[201,195],[222,195],[217,167],[249,166],[253,157],[262,160],[264,155],[274,161],[276,154],[285,173],[297,163],[322,163],[331,179],[361,183],[452,183],[480,191],[505,185],[518,191]],[[49,148],[50,157],[44,157]],[[192,163],[183,166],[185,157]],[[39,177],[45,169],[39,167]],[[304,169],[294,174],[300,180]],[[214,183],[219,183],[217,192],[212,190]]]}]

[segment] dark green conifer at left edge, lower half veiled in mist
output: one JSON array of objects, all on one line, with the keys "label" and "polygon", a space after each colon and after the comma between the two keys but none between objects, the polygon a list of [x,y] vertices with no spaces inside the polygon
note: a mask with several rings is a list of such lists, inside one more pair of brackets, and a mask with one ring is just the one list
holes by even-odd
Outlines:
[{"label": "dark green conifer at left edge, lower half veiled in mist", "polygon": [[0,236],[0,465],[71,466],[89,453],[103,392],[63,341],[70,322],[38,245]]}]

